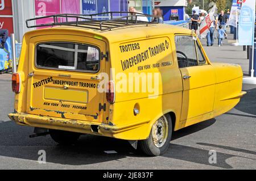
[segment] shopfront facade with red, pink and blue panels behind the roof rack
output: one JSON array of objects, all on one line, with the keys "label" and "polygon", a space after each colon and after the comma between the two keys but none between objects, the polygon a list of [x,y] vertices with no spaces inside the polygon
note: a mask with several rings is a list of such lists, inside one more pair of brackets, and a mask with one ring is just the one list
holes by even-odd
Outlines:
[{"label": "shopfront facade with red, pink and blue panels behind the roof rack", "polygon": [[[165,0],[166,2],[183,2],[183,0]],[[161,1],[160,5],[164,1]],[[165,3],[166,5],[166,3]],[[177,5],[177,4],[176,4]],[[179,3],[180,5],[180,3]],[[183,5],[183,3],[181,3]],[[129,7],[137,11],[151,14],[155,6],[154,0],[0,0],[0,29],[15,33],[16,40],[22,41],[26,27],[26,19],[54,14],[97,14],[109,11],[128,11]],[[164,13],[174,12],[163,7]],[[183,9],[181,7],[181,9]],[[182,12],[177,10],[177,13]],[[117,14],[118,15],[118,14]],[[165,15],[166,17],[168,15]],[[165,18],[167,19],[167,18]],[[36,24],[49,23],[52,19],[36,20]]]}]

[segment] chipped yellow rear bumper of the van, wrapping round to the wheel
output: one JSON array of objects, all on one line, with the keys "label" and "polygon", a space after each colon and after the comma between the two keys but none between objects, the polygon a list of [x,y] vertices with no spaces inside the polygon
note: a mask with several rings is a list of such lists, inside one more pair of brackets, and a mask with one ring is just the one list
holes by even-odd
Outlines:
[{"label": "chipped yellow rear bumper of the van, wrapping round to the wheel", "polygon": [[[148,137],[146,133],[147,128],[150,128],[150,121],[117,126],[90,121],[29,115],[26,113],[10,113],[9,118],[19,125],[28,127],[57,129],[61,131],[94,134],[98,136],[119,138],[122,140],[144,140]],[[92,129],[92,127],[94,129]],[[142,130],[144,130],[144,136],[142,136],[142,134],[138,134],[138,132],[141,132]],[[135,134],[136,132],[137,134]]]}]

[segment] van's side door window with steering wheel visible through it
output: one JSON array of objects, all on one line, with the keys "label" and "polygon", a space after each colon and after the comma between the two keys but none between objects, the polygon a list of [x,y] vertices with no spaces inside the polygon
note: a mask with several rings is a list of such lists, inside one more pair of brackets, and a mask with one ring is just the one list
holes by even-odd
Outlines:
[{"label": "van's side door window with steering wheel visible through it", "polygon": [[175,44],[180,69],[199,65],[196,54],[196,42],[192,36],[175,36]]}]

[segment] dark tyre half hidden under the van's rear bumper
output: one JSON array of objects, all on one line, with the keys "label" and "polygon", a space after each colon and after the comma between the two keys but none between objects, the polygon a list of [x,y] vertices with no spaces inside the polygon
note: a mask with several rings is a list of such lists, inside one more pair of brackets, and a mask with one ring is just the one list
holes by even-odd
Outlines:
[{"label": "dark tyre half hidden under the van's rear bumper", "polygon": [[79,139],[80,133],[59,131],[55,129],[49,129],[52,140],[60,145],[72,145]]}]

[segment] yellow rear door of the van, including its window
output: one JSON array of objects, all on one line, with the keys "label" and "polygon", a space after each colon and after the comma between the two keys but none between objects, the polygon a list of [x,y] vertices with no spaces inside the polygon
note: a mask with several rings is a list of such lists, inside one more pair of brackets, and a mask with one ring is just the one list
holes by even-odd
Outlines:
[{"label": "yellow rear door of the van, including its window", "polygon": [[102,122],[106,43],[85,36],[44,35],[30,39],[27,113]]}]

